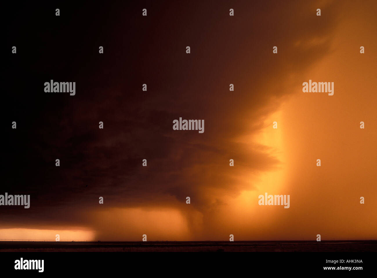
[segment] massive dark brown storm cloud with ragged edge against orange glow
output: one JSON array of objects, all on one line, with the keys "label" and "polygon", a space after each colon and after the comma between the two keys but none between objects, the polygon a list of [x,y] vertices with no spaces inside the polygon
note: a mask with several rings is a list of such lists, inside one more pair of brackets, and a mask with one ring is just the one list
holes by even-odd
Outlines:
[{"label": "massive dark brown storm cloud with ragged edge against orange glow", "polygon": [[[2,208],[4,225],[88,225],[81,212],[98,206],[99,196],[109,207],[169,206],[159,200],[191,196],[205,212],[220,202],[218,192],[253,186],[229,175],[230,158],[240,166],[235,176],[279,165],[259,146],[233,139],[259,129],[277,109],[267,105],[281,96],[284,73],[328,52],[337,14],[318,23],[312,2],[244,1],[232,7],[235,17],[218,1],[150,2],[147,18],[139,16],[142,8],[83,6],[67,18],[61,9],[60,18],[42,22],[34,14],[13,27],[21,58],[8,58],[15,90],[6,96],[5,122],[15,119],[17,131],[6,131],[2,191],[31,194],[31,208]],[[316,50],[304,43],[316,37],[323,39]],[[76,95],[44,93],[50,79],[76,82]],[[270,82],[277,89],[265,91]],[[204,119],[204,133],[173,131],[179,117]]]}]

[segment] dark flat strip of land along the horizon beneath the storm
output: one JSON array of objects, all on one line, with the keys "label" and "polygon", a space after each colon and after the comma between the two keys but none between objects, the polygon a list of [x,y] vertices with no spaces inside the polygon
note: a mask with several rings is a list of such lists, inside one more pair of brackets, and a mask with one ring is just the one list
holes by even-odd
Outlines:
[{"label": "dark flat strip of land along the horizon beneath the storm", "polygon": [[376,240],[280,242],[0,242],[0,252],[376,252]]}]

